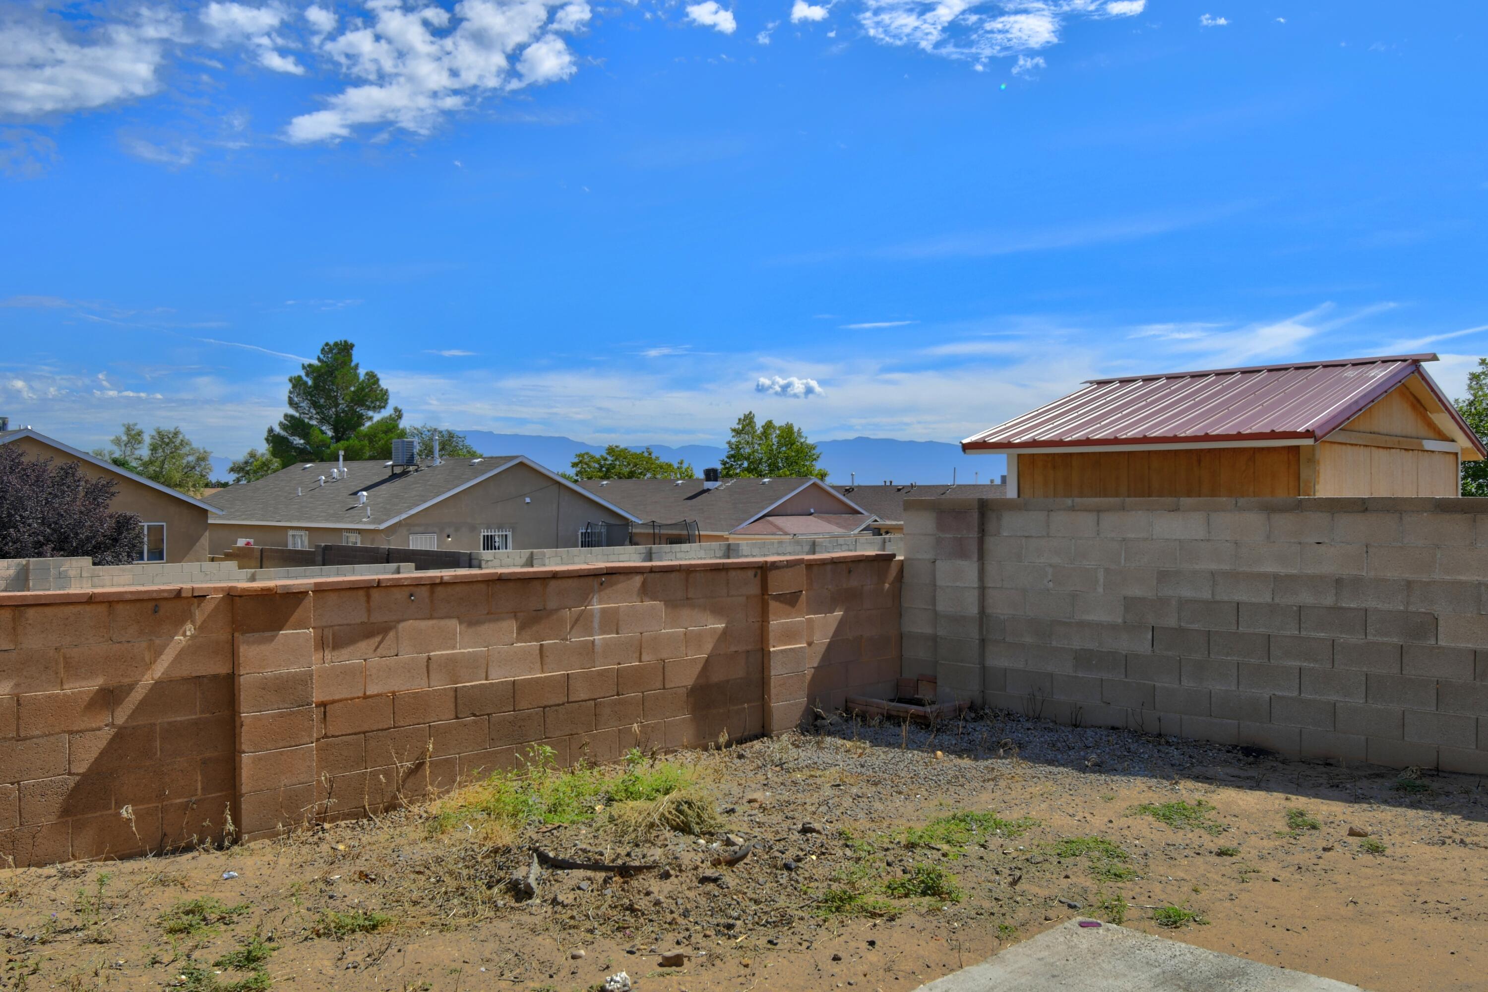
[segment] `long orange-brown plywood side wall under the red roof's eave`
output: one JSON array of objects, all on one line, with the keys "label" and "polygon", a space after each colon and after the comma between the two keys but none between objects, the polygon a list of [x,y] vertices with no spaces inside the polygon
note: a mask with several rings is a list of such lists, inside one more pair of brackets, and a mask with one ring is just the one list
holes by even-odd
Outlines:
[{"label": "long orange-brown plywood side wall under the red roof's eave", "polygon": [[1298,448],[1199,448],[1018,455],[1019,497],[1281,497],[1298,492]]}]

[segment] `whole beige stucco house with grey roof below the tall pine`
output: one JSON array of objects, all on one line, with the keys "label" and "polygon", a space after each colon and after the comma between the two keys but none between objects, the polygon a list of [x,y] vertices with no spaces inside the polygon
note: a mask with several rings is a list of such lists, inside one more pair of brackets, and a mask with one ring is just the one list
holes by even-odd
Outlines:
[{"label": "whole beige stucco house with grey roof below the tall pine", "polygon": [[577,547],[586,524],[637,518],[522,455],[301,463],[207,500],[211,553],[235,544],[426,550]]}]

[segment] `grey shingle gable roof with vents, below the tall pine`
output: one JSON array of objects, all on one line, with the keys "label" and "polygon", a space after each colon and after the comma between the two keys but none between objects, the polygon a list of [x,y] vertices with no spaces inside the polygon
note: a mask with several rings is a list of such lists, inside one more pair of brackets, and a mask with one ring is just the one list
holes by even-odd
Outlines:
[{"label": "grey shingle gable roof with vents, below the tall pine", "polygon": [[[426,463],[417,470],[396,474],[384,460],[348,461],[342,479],[330,477],[330,470],[338,467],[335,461],[298,463],[257,482],[219,489],[207,498],[223,513],[223,518],[213,524],[296,524],[379,531],[512,466],[527,466],[573,489],[585,500],[592,500],[629,521],[637,519],[525,455],[445,458],[437,466]],[[326,477],[324,485],[320,482],[321,476]],[[368,494],[366,506],[357,503],[359,492]],[[369,509],[372,519],[366,519]]]}]

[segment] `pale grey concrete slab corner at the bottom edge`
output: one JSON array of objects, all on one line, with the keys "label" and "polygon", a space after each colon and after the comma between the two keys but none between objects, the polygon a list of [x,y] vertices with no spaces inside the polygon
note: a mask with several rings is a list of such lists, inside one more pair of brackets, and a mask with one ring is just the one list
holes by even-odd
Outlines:
[{"label": "pale grey concrete slab corner at the bottom edge", "polygon": [[917,992],[1363,992],[1125,927],[1070,921]]}]

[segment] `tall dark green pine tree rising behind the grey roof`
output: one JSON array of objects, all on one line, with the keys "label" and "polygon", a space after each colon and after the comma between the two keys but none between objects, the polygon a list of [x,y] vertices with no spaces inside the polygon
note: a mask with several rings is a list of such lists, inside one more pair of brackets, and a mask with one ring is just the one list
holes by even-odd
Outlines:
[{"label": "tall dark green pine tree rising behind the grey roof", "polygon": [[403,410],[387,409],[388,394],[376,372],[362,372],[353,360],[356,345],[329,341],[315,361],[289,378],[289,413],[265,436],[281,466],[296,461],[388,458],[393,439],[403,436]]}]

